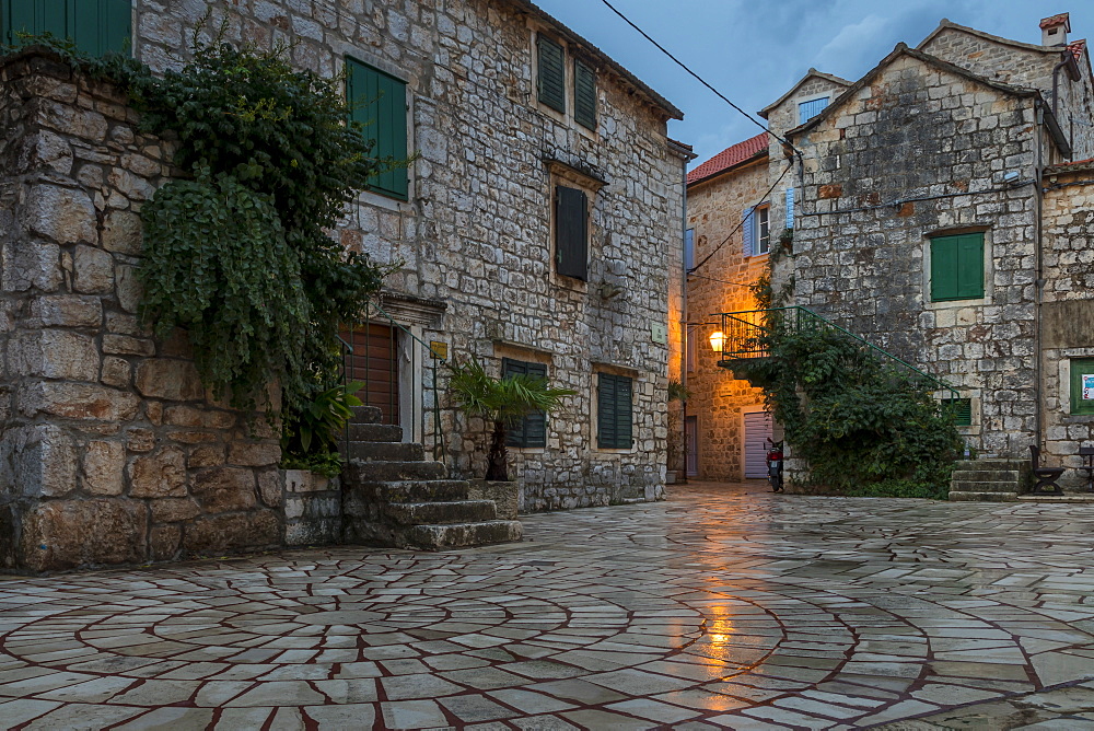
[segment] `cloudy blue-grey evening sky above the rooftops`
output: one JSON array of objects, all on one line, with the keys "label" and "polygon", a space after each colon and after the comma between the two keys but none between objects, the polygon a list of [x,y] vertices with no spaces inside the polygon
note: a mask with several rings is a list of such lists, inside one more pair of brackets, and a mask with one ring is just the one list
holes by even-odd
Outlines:
[{"label": "cloudy blue-grey evening sky above the rooftops", "polygon": [[[916,46],[948,18],[1040,43],[1041,18],[1071,12],[1070,38],[1094,36],[1091,0],[609,0],[735,104],[755,115],[810,67],[854,81],[899,43]],[[602,0],[535,0],[684,111],[668,134],[695,164],[759,128],[691,79]]]}]

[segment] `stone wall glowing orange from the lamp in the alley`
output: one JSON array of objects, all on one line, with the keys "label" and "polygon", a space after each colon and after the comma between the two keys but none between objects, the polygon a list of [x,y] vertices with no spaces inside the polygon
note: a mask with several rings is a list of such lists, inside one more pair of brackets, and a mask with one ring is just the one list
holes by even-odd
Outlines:
[{"label": "stone wall glowing orange from the lamp in the alley", "polygon": [[[688,278],[688,321],[715,323],[711,313],[755,310],[747,285],[765,271],[767,255],[744,255],[741,216],[759,202],[768,186],[766,159],[688,188],[688,227],[695,229],[696,262],[711,258]],[[773,219],[772,219],[773,220]],[[772,246],[778,235],[772,227]],[[733,235],[728,242],[722,242]],[[721,245],[721,248],[719,248]],[[720,325],[694,329],[695,370],[689,371],[688,416],[697,417],[698,469],[701,479],[738,480],[744,476],[744,409],[758,409],[764,393],[717,366],[708,338]]]}]

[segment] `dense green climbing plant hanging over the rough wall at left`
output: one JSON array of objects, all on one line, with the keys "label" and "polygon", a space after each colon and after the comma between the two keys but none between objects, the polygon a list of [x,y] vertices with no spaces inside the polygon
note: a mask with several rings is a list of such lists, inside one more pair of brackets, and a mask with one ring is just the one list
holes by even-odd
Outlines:
[{"label": "dense green climbing plant hanging over the rough wall at left", "polygon": [[340,78],[295,70],[287,47],[200,43],[158,76],[126,56],[81,55],[49,37],[74,67],[128,95],[147,134],[174,140],[182,175],[141,208],[141,315],[155,332],[185,327],[205,384],[240,408],[291,415],[329,387],[338,328],[381,285],[368,257],[330,239],[370,176],[406,161],[380,159]]}]

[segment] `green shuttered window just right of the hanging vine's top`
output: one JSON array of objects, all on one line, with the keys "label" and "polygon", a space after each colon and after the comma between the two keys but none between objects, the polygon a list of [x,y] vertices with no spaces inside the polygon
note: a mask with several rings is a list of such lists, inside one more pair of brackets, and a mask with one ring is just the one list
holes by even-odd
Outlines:
[{"label": "green shuttered window just right of the hanging vine's top", "polygon": [[[377,158],[407,156],[407,84],[368,63],[346,58],[346,98],[350,121],[362,125],[361,134],[375,139]],[[407,199],[407,169],[396,167],[369,178],[369,188],[399,200]]]}]

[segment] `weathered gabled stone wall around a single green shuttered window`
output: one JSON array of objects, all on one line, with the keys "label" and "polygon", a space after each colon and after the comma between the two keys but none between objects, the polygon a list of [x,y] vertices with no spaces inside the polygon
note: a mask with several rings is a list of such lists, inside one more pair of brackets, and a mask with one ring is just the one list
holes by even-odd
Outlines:
[{"label": "weathered gabled stone wall around a single green shuttered window", "polygon": [[[798,140],[796,303],[957,386],[989,454],[1035,433],[1036,193],[1003,177],[1035,177],[1035,129],[1032,98],[904,55]],[[977,227],[985,298],[931,302],[928,236]]]}]

